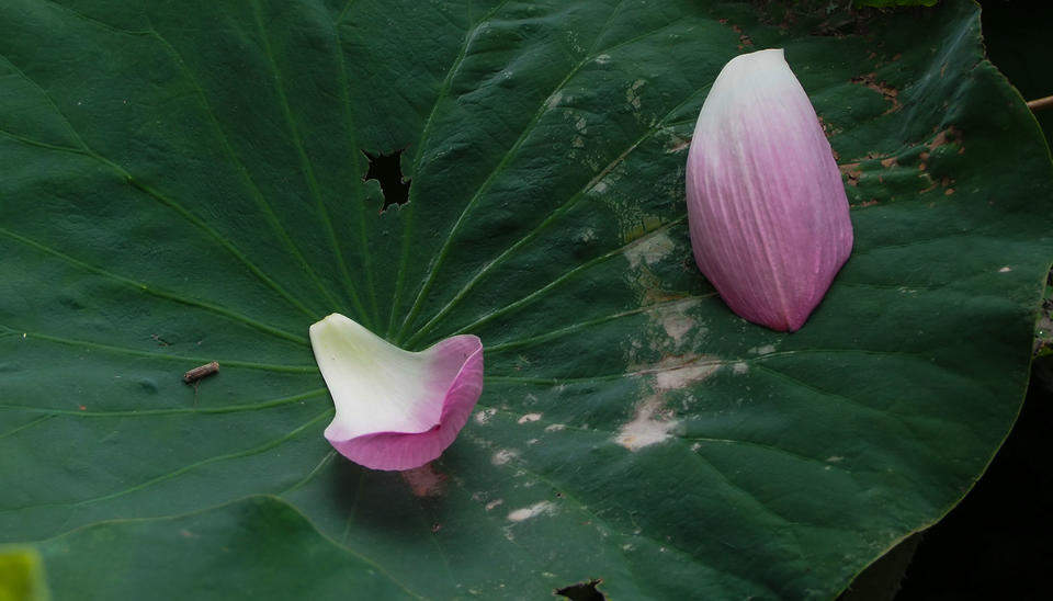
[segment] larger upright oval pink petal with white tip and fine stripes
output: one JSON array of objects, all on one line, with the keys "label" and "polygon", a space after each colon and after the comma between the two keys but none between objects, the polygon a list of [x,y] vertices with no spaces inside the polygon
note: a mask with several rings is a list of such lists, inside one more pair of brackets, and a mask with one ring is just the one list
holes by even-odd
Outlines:
[{"label": "larger upright oval pink petal with white tip and fine stripes", "polygon": [[794,331],[852,250],[830,144],[782,49],[737,56],[699,113],[688,155],[691,247],[739,316]]}]

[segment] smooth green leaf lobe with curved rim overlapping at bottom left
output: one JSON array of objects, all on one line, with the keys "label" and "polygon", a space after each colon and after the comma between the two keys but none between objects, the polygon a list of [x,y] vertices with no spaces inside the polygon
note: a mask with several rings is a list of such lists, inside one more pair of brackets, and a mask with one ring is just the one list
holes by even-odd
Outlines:
[{"label": "smooth green leaf lobe with curved rim overlapping at bottom left", "polygon": [[[56,590],[77,599],[412,597],[367,557],[264,496],[188,515],[94,523],[48,540],[42,555]],[[105,569],[91,569],[92,557]]]}]

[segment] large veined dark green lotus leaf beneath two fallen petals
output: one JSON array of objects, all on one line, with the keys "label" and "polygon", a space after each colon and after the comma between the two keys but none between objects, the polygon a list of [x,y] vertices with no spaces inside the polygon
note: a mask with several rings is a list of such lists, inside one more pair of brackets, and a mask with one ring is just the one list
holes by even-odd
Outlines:
[{"label": "large veined dark green lotus leaf beneath two fallen petals", "polygon": [[[5,0],[0,535],[43,541],[59,598],[836,594],[1009,430],[1053,174],[972,3],[819,16]],[[857,235],[794,334],[727,310],[684,224],[706,90],[771,46]],[[363,149],[405,149],[408,204],[381,212]],[[328,311],[483,338],[440,461],[326,444]]]}]

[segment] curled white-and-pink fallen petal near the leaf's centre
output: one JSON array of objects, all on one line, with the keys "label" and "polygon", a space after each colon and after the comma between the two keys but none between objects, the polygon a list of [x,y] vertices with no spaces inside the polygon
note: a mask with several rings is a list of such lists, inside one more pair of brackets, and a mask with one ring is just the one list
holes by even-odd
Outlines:
[{"label": "curled white-and-pink fallen petal near the leaf's centre", "polygon": [[310,345],[337,408],[325,436],[372,469],[411,469],[437,458],[483,392],[483,342],[475,336],[412,353],[332,314],[310,327]]}]

